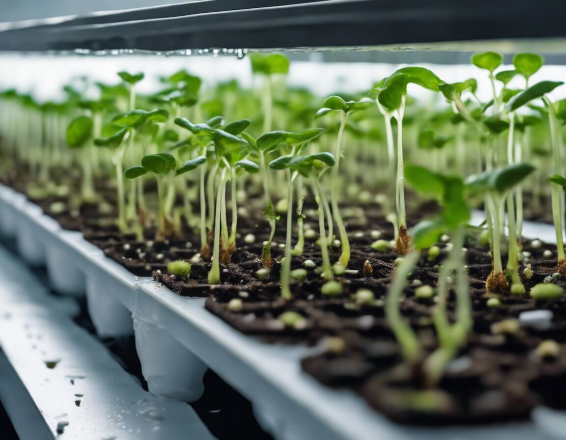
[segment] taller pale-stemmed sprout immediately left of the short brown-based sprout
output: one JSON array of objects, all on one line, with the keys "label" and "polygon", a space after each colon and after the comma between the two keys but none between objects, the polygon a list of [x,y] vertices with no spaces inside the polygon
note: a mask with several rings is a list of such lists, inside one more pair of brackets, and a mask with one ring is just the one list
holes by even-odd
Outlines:
[{"label": "taller pale-stemmed sprout immediately left of the short brown-based sprout", "polygon": [[[139,130],[140,127],[145,123],[153,122],[167,122],[169,118],[169,112],[167,110],[134,110],[128,113],[121,113],[116,115],[112,122],[122,127],[117,132],[113,133],[109,137],[99,137],[95,139],[95,145],[106,146],[115,151],[112,162],[116,170],[116,182],[118,189],[118,227],[122,233],[128,231],[128,225],[126,221],[126,197],[124,192],[124,182],[123,182],[123,158],[128,148],[128,145],[134,143],[134,133],[135,130]],[[124,138],[128,136],[128,143],[123,143]]]}]

